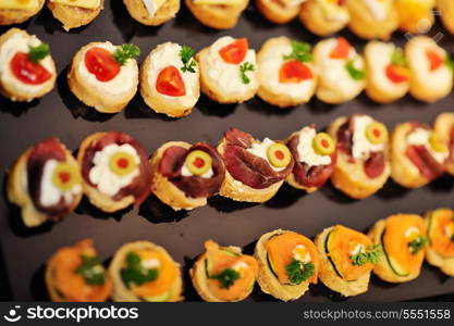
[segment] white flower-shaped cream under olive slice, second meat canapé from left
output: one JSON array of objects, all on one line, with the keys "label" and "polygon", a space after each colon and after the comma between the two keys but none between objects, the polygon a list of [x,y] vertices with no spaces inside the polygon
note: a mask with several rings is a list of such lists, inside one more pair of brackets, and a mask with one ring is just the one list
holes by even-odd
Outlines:
[{"label": "white flower-shaped cream under olive slice, second meat canap\u00e9 from left", "polygon": [[140,159],[134,147],[128,143],[121,146],[111,143],[95,153],[93,159],[94,166],[88,175],[90,183],[96,185],[100,192],[110,197],[115,196],[122,188],[127,187],[139,174],[138,166],[123,176],[115,174],[110,168],[112,155],[119,152],[126,152],[134,158],[137,165],[140,163]]}]

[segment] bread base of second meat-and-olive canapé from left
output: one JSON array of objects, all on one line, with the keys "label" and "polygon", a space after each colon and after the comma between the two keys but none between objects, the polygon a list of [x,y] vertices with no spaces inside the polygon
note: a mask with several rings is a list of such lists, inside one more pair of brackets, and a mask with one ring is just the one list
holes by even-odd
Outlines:
[{"label": "bread base of second meat-and-olive canap\u00e9 from left", "polygon": [[[85,151],[87,148],[93,142],[96,142],[98,139],[102,138],[107,133],[95,133],[84,139],[77,151],[77,161],[81,166],[83,165]],[[111,197],[100,192],[96,187],[90,186],[84,178],[82,178],[82,188],[90,203],[107,213],[118,212],[132,205],[135,202],[135,198],[132,195],[126,196],[121,200],[113,200]]]}]

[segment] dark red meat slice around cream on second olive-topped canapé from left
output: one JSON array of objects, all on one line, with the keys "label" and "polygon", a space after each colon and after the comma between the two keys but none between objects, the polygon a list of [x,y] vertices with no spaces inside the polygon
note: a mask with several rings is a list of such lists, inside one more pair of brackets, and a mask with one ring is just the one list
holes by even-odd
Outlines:
[{"label": "dark red meat slice around cream on second olive-topped canap\u00e9 from left", "polygon": [[85,150],[85,155],[82,163],[82,177],[91,187],[96,187],[96,185],[93,185],[89,179],[89,172],[94,167],[93,160],[96,152],[101,151],[105,147],[112,143],[116,143],[119,146],[125,143],[131,145],[136,150],[137,155],[140,159],[140,163],[137,166],[139,168],[138,176],[135,177],[127,187],[122,188],[115,196],[112,197],[112,199],[118,201],[127,196],[134,196],[135,205],[138,206],[150,192],[149,185],[151,184],[151,168],[148,164],[147,153],[144,151],[138,141],[132,138],[130,135],[119,131],[110,131],[95,142],[90,143],[90,146],[88,146]]}]

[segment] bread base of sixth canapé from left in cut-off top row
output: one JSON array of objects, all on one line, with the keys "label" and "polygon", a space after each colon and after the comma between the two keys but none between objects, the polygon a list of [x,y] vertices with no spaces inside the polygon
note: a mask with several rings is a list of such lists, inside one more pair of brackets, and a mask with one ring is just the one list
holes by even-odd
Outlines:
[{"label": "bread base of sixth canap\u00e9 from left in cut-off top row", "polygon": [[[346,12],[348,15],[348,12]],[[349,20],[349,18],[348,18]],[[307,0],[302,5],[299,12],[299,21],[311,33],[318,36],[329,36],[344,28],[347,21],[328,20],[324,15],[323,9],[317,3],[317,0]]]}]

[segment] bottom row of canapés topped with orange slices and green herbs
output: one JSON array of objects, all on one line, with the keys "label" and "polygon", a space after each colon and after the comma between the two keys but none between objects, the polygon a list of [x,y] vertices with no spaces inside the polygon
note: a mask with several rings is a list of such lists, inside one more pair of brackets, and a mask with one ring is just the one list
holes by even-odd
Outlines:
[{"label": "bottom row of canap\u00e9s topped with orange slices and green herbs", "polygon": [[[296,300],[321,280],[345,297],[367,291],[370,274],[389,283],[419,276],[422,262],[454,276],[454,211],[438,209],[422,218],[395,214],[378,221],[368,235],[335,225],[314,242],[277,229],[262,235],[253,255],[238,247],[205,242],[189,274],[198,294],[210,302],[246,299],[257,280],[261,290],[283,301]],[[91,240],[60,249],[48,262],[46,285],[53,301],[181,301],[179,264],[149,241],[126,243],[106,272]]]}]

